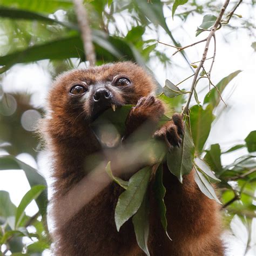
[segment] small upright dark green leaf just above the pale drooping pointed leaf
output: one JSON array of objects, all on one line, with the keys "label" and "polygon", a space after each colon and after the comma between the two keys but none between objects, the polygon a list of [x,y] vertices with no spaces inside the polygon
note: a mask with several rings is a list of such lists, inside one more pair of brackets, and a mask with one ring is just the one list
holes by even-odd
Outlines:
[{"label": "small upright dark green leaf just above the pale drooping pointed leaf", "polygon": [[211,145],[210,150],[206,150],[204,161],[206,161],[206,163],[210,165],[211,169],[214,172],[220,172],[223,170],[220,160],[220,154],[221,152],[219,144],[213,144]]}]

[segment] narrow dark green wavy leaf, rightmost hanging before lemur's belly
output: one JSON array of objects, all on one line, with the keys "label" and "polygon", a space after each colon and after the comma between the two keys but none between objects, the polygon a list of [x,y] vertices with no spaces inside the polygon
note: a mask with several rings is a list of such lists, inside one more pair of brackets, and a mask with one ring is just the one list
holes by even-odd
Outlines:
[{"label": "narrow dark green wavy leaf, rightmost hanging before lemur's belly", "polygon": [[157,169],[153,190],[154,190],[154,196],[156,197],[156,200],[157,200],[157,206],[158,206],[158,212],[159,212],[161,224],[164,228],[164,231],[167,237],[170,240],[172,240],[169,234],[167,233],[166,206],[164,203],[166,189],[163,184],[163,164],[160,164]]}]

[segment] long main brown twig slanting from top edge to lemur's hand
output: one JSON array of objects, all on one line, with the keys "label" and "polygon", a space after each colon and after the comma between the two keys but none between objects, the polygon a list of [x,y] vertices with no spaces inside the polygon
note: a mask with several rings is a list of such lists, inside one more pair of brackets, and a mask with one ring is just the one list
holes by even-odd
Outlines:
[{"label": "long main brown twig slanting from top edge to lemur's hand", "polygon": [[206,59],[206,57],[207,57],[207,52],[208,52],[208,48],[209,48],[211,39],[212,39],[212,37],[213,37],[215,31],[217,30],[218,25],[220,24],[221,18],[223,17],[224,12],[225,12],[225,10],[226,10],[227,5],[228,5],[229,2],[230,2],[229,0],[226,0],[226,1],[225,1],[223,7],[222,7],[221,10],[220,10],[220,14],[219,14],[218,18],[216,19],[216,21],[215,21],[215,23],[214,23],[214,25],[213,25],[213,27],[212,27],[212,29],[211,29],[211,32],[209,33],[209,35],[208,35],[208,37],[207,37],[207,39],[206,39],[206,44],[205,44],[204,53],[203,53],[201,62],[200,62],[199,66],[198,66],[198,68],[197,68],[197,70],[196,70],[196,72],[195,72],[194,79],[193,79],[193,82],[192,82],[192,85],[191,85],[191,89],[190,89],[190,96],[188,97],[187,104],[186,104],[186,106],[185,106],[185,108],[184,108],[184,110],[183,110],[183,114],[184,114],[184,113],[185,113],[185,114],[188,114],[188,107],[189,107],[189,105],[190,105],[190,100],[191,100],[192,95],[193,95],[194,86],[196,85],[196,82],[197,82],[197,77],[198,77],[199,72],[200,72],[201,68],[203,67],[204,62],[205,62],[205,59]]}]

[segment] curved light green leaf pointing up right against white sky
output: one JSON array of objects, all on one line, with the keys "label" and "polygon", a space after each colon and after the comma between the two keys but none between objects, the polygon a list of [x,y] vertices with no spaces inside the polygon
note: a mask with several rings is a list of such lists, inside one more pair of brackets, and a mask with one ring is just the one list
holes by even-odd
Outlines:
[{"label": "curved light green leaf pointing up right against white sky", "polygon": [[[228,83],[230,83],[231,80],[234,77],[236,77],[240,72],[241,72],[241,70],[237,70],[237,71],[231,73],[230,75],[224,77],[223,79],[221,79],[220,82],[216,85],[219,92],[222,93],[224,91],[225,87],[228,85]],[[215,87],[212,88],[211,91],[208,92],[207,95],[205,96],[204,104],[210,103],[210,104],[212,104],[213,108],[216,107],[220,102],[219,92],[217,91],[217,89]]]}]

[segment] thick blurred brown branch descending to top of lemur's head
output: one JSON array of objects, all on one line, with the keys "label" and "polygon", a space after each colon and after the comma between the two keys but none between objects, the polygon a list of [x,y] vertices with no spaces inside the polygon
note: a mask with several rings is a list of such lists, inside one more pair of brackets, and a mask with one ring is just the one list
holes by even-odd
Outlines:
[{"label": "thick blurred brown branch descending to top of lemur's head", "polygon": [[77,15],[77,22],[82,34],[85,58],[89,61],[90,66],[95,65],[96,55],[92,44],[92,32],[88,21],[87,11],[83,5],[83,0],[73,0]]}]

